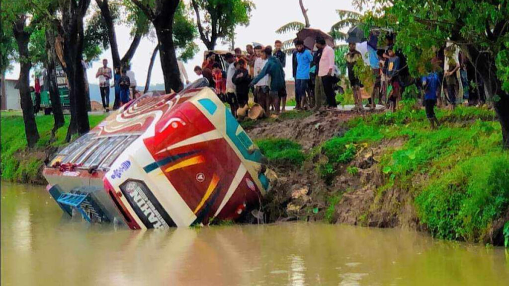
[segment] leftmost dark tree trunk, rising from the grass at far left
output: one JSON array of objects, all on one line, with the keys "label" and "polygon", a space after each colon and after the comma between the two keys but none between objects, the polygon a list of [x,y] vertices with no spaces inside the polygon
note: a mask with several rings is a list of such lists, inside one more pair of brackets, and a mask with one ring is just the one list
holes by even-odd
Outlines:
[{"label": "leftmost dark tree trunk, rising from the grass at far left", "polygon": [[25,126],[26,143],[29,148],[35,146],[39,140],[39,131],[34,115],[34,105],[30,93],[30,69],[32,63],[29,54],[30,33],[25,31],[25,18],[16,21],[13,28],[14,38],[18,44],[19,53],[19,79],[18,89],[21,98],[21,110]]}]

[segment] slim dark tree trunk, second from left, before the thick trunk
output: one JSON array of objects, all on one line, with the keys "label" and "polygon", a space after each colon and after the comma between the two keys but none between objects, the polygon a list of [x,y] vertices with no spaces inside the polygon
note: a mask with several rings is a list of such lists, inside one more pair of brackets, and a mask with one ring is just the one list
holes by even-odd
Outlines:
[{"label": "slim dark tree trunk, second from left, before the thick trunk", "polygon": [[59,87],[56,81],[56,53],[55,53],[55,34],[52,28],[46,28],[46,53],[48,62],[46,69],[48,72],[49,98],[51,99],[51,111],[53,112],[53,131],[64,126],[64,112],[62,111],[62,103],[60,102]]}]

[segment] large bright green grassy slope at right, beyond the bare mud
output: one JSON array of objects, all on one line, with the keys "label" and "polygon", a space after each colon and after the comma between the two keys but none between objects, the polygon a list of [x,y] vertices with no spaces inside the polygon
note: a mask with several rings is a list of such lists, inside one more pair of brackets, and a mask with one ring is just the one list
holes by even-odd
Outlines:
[{"label": "large bright green grassy slope at right, beyond the bare mud", "polygon": [[[357,120],[344,136],[329,140],[322,151],[332,160],[323,175],[330,176],[331,162],[352,158],[348,146],[404,138],[401,148],[380,160],[386,184],[377,196],[391,188],[410,192],[420,223],[433,236],[483,240],[509,209],[509,152],[502,150],[499,123],[490,110],[460,107],[440,110],[442,126],[432,130],[424,112],[412,106]],[[339,147],[345,151],[337,154]]]}]

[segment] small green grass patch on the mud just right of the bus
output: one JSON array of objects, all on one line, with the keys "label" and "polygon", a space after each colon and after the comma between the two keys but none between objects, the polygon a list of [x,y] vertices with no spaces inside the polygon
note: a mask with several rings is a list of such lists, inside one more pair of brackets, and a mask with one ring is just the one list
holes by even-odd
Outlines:
[{"label": "small green grass patch on the mud just right of the bus", "polygon": [[301,166],[306,159],[302,147],[289,139],[263,139],[257,141],[256,144],[272,164]]}]

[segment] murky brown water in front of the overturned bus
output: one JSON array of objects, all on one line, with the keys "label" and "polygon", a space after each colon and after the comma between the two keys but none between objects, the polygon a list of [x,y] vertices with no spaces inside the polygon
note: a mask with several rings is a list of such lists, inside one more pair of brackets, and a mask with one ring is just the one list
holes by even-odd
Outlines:
[{"label": "murky brown water in front of the overturned bus", "polygon": [[509,285],[502,248],[303,222],[130,231],[1,188],[2,285]]}]

